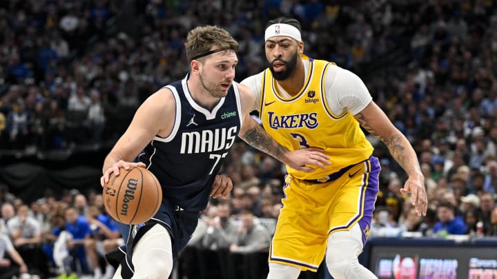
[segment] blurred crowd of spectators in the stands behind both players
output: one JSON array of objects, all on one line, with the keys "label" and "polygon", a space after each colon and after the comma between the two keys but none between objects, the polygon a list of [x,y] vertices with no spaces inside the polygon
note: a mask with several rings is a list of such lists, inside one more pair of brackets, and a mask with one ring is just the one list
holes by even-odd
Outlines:
[{"label": "blurred crowd of spectators in the stands behind both players", "polygon": [[[188,30],[213,24],[231,32],[240,43],[241,81],[266,65],[266,21],[295,17],[304,53],[357,73],[419,156],[425,217],[399,192],[405,173],[369,136],[382,165],[371,237],[497,236],[496,8],[489,0],[0,1],[0,152],[42,156],[112,144],[144,99],[183,77]],[[213,200],[202,214],[183,262],[213,265],[198,260],[199,249],[226,251],[211,259],[267,250],[284,167],[239,142],[223,172],[233,180],[232,198]],[[0,229],[12,245],[0,245],[0,271],[21,264],[9,253],[19,251],[28,263],[46,257],[30,262],[32,273],[110,273],[101,254],[122,240],[96,196],[55,193],[26,206],[1,186]],[[79,225],[88,227],[84,234],[61,234]],[[257,236],[247,233],[251,226]],[[61,235],[72,239],[63,247],[73,252],[55,259]],[[220,270],[226,278],[244,272]]]}]

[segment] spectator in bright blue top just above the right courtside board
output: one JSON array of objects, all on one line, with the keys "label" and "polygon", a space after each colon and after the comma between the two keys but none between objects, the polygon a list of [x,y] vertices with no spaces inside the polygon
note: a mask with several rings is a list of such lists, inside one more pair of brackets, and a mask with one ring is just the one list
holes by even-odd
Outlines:
[{"label": "spectator in bright blue top just above the right courtside board", "polygon": [[436,208],[438,222],[433,227],[433,233],[438,236],[447,234],[465,234],[466,225],[461,216],[454,214],[454,205],[447,202],[440,203]]}]

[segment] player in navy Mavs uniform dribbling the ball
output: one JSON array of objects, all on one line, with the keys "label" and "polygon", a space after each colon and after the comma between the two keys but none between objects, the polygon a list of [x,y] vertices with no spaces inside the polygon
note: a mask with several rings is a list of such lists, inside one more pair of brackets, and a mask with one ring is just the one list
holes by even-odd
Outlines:
[{"label": "player in navy Mavs uniform dribbling the ball", "polygon": [[236,136],[301,172],[329,164],[320,149],[289,152],[249,115],[255,99],[248,87],[233,83],[238,43],[226,30],[197,27],[185,47],[190,72],[139,107],[104,161],[102,186],[120,168],[142,166],[157,176],[163,193],[157,214],[132,227],[126,247],[108,255],[119,265],[114,278],[168,278],[209,197],[230,194],[231,180],[217,172]]}]

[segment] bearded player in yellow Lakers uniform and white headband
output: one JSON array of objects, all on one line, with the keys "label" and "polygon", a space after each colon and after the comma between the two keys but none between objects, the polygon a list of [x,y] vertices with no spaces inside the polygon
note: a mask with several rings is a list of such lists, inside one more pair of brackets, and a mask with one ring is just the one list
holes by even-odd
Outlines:
[{"label": "bearded player in yellow Lakers uniform and white headband", "polygon": [[358,261],[380,173],[360,125],[405,169],[409,178],[400,191],[411,193],[416,211],[425,215],[427,195],[416,153],[358,76],[303,55],[297,20],[269,21],[265,50],[269,68],[242,81],[255,94],[254,110],[264,129],[290,150],[323,149],[331,162],[312,173],[287,167],[268,278],[296,279],[302,270],[316,271],[324,256],[335,279],[376,278]]}]

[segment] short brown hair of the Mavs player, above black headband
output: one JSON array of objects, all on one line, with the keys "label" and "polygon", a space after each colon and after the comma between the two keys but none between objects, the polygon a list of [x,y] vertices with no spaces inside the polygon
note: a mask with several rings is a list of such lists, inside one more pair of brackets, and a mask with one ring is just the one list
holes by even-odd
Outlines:
[{"label": "short brown hair of the Mavs player, above black headband", "polygon": [[190,30],[186,36],[185,49],[188,61],[202,56],[211,50],[213,45],[217,45],[219,50],[238,51],[238,42],[228,31],[213,25],[199,26]]}]

